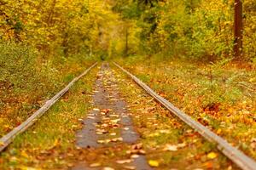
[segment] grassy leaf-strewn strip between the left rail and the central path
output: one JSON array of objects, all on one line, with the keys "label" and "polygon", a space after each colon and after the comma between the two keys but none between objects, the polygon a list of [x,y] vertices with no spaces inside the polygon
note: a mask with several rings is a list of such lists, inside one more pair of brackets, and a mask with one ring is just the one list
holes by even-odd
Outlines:
[{"label": "grassy leaf-strewn strip between the left rail and the central path", "polygon": [[0,156],[0,169],[67,168],[75,161],[79,118],[90,109],[96,69],[76,82],[38,122],[20,134]]}]

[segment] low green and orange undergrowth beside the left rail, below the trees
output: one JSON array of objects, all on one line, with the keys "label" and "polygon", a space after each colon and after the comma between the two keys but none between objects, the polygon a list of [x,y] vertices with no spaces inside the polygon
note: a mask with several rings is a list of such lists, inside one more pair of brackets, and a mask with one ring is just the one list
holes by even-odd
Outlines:
[{"label": "low green and orange undergrowth beside the left rail, below the trees", "polygon": [[48,61],[39,55],[32,47],[0,42],[0,137],[94,62],[79,54]]}]

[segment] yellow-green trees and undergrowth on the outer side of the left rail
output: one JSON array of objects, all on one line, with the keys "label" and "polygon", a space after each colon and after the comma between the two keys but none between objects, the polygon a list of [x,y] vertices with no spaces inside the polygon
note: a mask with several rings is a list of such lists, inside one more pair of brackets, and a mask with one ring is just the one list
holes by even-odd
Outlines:
[{"label": "yellow-green trees and undergrowth on the outer side of the left rail", "polygon": [[98,15],[88,8],[83,1],[0,1],[0,137],[96,60]]}]

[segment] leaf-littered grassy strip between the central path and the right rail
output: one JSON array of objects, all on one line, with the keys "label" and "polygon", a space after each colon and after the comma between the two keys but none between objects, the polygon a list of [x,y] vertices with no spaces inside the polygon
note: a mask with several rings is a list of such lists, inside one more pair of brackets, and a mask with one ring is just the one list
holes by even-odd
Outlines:
[{"label": "leaf-littered grassy strip between the central path and the right rail", "polygon": [[201,138],[139,88],[130,77],[115,70],[119,89],[129,104],[141,136],[148,164],[157,169],[236,169],[215,144]]}]

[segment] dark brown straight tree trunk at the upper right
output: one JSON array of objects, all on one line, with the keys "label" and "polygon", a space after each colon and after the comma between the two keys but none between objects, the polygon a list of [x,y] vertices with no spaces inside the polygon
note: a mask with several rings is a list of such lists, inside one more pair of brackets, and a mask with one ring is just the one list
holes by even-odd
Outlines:
[{"label": "dark brown straight tree trunk at the upper right", "polygon": [[235,0],[235,26],[234,26],[234,54],[235,59],[240,60],[242,56],[242,3]]}]

